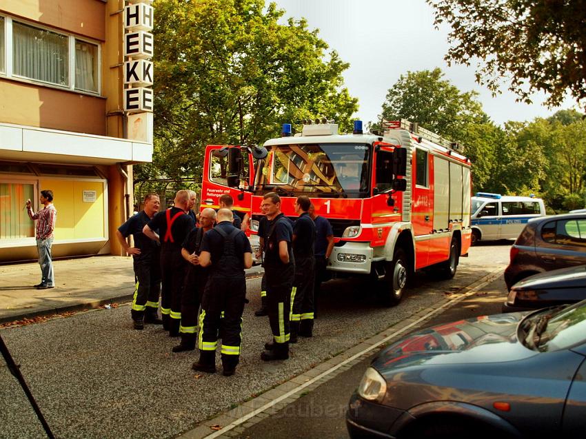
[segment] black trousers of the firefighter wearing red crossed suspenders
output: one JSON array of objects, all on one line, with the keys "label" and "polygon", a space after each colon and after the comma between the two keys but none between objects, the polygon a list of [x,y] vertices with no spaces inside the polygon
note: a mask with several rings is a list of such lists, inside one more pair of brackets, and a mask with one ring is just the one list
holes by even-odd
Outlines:
[{"label": "black trousers of the firefighter wearing red crossed suspenders", "polygon": [[170,249],[161,252],[161,314],[163,325],[170,329],[170,320],[176,320],[179,328],[181,320],[181,289],[185,272],[185,259],[181,256],[181,250]]}]

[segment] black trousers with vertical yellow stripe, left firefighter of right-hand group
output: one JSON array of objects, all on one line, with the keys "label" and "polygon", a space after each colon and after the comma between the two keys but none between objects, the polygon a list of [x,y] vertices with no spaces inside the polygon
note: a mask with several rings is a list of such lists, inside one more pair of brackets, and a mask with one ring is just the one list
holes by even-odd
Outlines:
[{"label": "black trousers with vertical yellow stripe, left firefighter of right-hand group", "polygon": [[293,287],[293,264],[265,265],[267,276],[267,313],[276,343],[287,343],[290,338],[289,314]]}]

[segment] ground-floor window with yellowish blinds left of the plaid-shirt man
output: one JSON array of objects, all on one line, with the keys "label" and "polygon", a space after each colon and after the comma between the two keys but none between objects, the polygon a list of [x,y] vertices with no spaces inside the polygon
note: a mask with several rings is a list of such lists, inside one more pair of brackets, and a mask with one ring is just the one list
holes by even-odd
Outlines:
[{"label": "ground-floor window with yellowish blinds left of the plaid-shirt man", "polygon": [[34,223],[23,209],[33,194],[32,183],[0,183],[0,239],[34,237]]}]

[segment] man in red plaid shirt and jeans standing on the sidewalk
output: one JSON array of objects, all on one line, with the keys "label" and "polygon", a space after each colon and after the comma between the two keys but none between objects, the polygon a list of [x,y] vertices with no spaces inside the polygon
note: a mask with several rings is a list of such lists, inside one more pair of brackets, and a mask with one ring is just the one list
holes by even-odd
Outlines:
[{"label": "man in red plaid shirt and jeans standing on the sidewalk", "polygon": [[37,220],[37,250],[39,251],[39,265],[41,265],[41,283],[34,285],[37,289],[47,289],[55,287],[55,278],[53,274],[53,258],[51,256],[51,246],[53,245],[53,231],[55,221],[57,221],[57,209],[53,205],[53,192],[50,190],[41,190],[41,204],[43,209],[36,214],[32,212],[30,200],[26,201],[26,212],[30,219]]}]

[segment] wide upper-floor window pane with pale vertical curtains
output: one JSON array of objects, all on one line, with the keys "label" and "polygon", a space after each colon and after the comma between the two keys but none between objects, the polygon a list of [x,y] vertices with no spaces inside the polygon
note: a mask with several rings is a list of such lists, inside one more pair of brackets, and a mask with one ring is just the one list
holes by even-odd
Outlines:
[{"label": "wide upper-floor window pane with pale vertical curtains", "polygon": [[12,23],[12,71],[29,79],[68,84],[68,37]]}]

